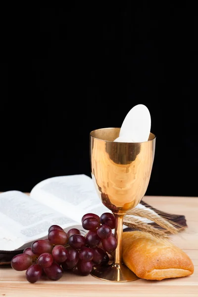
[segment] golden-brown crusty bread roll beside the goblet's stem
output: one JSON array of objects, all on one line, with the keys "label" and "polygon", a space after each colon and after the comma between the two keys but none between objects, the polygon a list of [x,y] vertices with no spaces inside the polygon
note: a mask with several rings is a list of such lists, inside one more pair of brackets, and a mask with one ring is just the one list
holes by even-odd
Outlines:
[{"label": "golden-brown crusty bread roll beside the goblet's stem", "polygon": [[162,280],[194,272],[193,262],[183,250],[148,233],[124,232],[122,246],[123,262],[140,278]]}]

